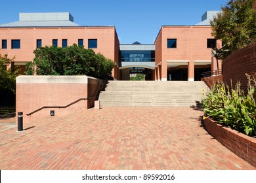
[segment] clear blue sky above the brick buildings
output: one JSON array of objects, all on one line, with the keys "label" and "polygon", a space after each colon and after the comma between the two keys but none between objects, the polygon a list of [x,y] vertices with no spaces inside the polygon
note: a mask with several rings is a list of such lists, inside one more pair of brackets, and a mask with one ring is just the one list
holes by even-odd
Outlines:
[{"label": "clear blue sky above the brick buildings", "polygon": [[151,44],[161,25],[194,25],[206,10],[228,0],[14,0],[1,1],[0,24],[18,21],[19,12],[70,12],[79,25],[114,25],[121,44]]}]

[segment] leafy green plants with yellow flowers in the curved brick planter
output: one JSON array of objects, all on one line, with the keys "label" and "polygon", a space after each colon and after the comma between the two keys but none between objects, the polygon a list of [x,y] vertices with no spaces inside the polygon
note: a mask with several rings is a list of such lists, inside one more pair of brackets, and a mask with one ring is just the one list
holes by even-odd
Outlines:
[{"label": "leafy green plants with yellow flowers in the curved brick planter", "polygon": [[231,88],[231,91],[228,86],[218,83],[211,88],[202,103],[207,117],[253,137],[256,136],[256,103],[253,98],[256,80],[246,76],[247,95],[240,90],[240,82],[236,84],[235,89]]}]

